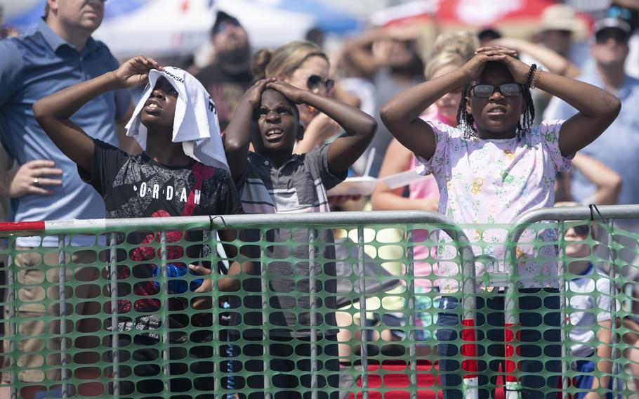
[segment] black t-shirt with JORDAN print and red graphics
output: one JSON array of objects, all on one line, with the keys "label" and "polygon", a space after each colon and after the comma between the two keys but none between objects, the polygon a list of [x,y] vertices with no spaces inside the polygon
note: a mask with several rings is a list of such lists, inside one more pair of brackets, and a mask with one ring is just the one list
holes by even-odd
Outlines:
[{"label": "black t-shirt with JORDAN print and red graphics", "polygon": [[[235,185],[225,169],[191,162],[186,166],[165,166],[150,159],[145,154],[129,155],[114,146],[100,140],[94,140],[93,166],[91,171],[78,168],[81,178],[95,188],[105,200],[107,218],[143,218],[166,216],[204,216],[221,214],[241,214],[242,207]],[[202,242],[203,233],[189,232],[185,242]],[[152,247],[143,244],[157,240],[159,233],[130,233],[119,237],[119,243],[126,240],[136,247],[129,251],[128,257],[135,262],[133,266],[133,308],[138,312],[155,313],[161,304],[158,299],[144,296],[159,294],[157,284],[157,263],[159,254]],[[174,270],[184,270],[184,256],[201,257],[206,249],[202,244],[187,247],[185,244],[171,245],[183,240],[180,230],[166,232],[167,259],[180,259],[171,262]],[[120,256],[119,256],[120,258]],[[131,270],[126,266],[118,268],[119,280],[129,280]],[[171,286],[169,285],[169,289]],[[169,292],[171,294],[171,292]],[[182,292],[173,292],[181,294]],[[131,296],[129,284],[119,284],[119,296]],[[121,299],[119,313],[131,311],[131,301]],[[169,310],[180,310],[187,306],[185,301],[169,301]],[[184,316],[184,315],[183,315]],[[188,324],[188,318],[171,315],[171,327]],[[125,326],[120,326],[123,329]],[[136,329],[155,329],[159,327],[157,316],[136,318]]]}]

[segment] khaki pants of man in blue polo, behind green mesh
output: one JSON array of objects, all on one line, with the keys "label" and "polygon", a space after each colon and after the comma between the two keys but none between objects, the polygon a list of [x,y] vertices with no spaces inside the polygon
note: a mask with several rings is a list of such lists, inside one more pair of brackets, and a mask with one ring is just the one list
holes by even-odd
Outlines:
[{"label": "khaki pants of man in blue polo, behind green mesh", "polygon": [[[6,369],[17,365],[17,380],[22,382],[60,381],[60,298],[58,284],[48,287],[46,284],[59,282],[59,252],[57,248],[16,248],[21,250],[13,258],[15,282],[8,285],[15,288],[15,337],[13,352],[10,350],[11,332],[8,321],[11,315],[11,303],[7,303],[4,312],[6,339],[4,340],[4,365]],[[66,315],[75,320],[65,323],[67,333],[80,333],[76,339],[65,338],[67,365],[71,368],[89,366],[100,360],[97,353],[100,339],[95,333],[100,331],[100,285],[99,271],[95,266],[96,254],[91,250],[68,252],[65,287]],[[11,266],[11,259],[8,266]],[[16,284],[19,283],[19,284]],[[72,285],[73,284],[73,285]],[[44,301],[47,302],[44,302]],[[44,302],[44,303],[43,303]],[[79,318],[85,315],[85,318]],[[53,320],[52,320],[53,319]],[[49,336],[44,336],[48,334]],[[87,351],[93,349],[93,351]],[[46,351],[43,353],[43,351]],[[38,369],[31,369],[37,367]],[[46,370],[46,375],[45,371]],[[76,370],[78,371],[78,370]],[[67,369],[67,377],[72,377]],[[11,381],[11,375],[4,372],[3,383]]]}]

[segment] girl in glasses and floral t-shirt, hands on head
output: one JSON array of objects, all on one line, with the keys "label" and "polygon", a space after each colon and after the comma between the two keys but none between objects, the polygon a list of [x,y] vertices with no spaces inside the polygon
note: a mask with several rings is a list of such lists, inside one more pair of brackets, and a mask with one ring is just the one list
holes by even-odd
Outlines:
[{"label": "girl in glasses and floral t-shirt, hands on head", "polygon": [[[621,108],[619,99],[612,94],[581,81],[537,70],[536,65],[526,65],[515,58],[516,55],[515,51],[504,47],[478,48],[466,64],[398,94],[382,107],[384,124],[400,143],[414,152],[418,172],[435,176],[440,190],[439,211],[454,223],[510,223],[529,209],[553,206],[555,174],[567,171],[570,158],[600,136]],[[463,87],[457,126],[425,122],[419,117],[424,109],[459,86]],[[534,107],[530,90],[535,87],[565,100],[579,113],[567,121],[542,122],[539,126],[532,126]],[[535,325],[536,318],[512,320],[503,310],[507,283],[493,281],[489,287],[483,283],[491,281],[494,275],[490,272],[509,267],[505,261],[509,256],[504,244],[506,230],[466,230],[466,235],[473,242],[485,243],[476,254],[480,258],[475,267],[475,292],[482,293],[476,298],[477,308],[488,306],[497,309],[487,315],[478,312],[477,324],[484,323],[485,318],[491,325],[519,322],[518,342],[535,341],[534,336],[539,329],[545,330],[544,337],[555,339],[558,332],[555,327],[560,325],[556,312],[544,318],[545,325]],[[522,235],[520,242],[534,239],[534,235]],[[552,237],[540,234],[537,239]],[[551,261],[557,258],[554,249],[551,246],[534,249],[531,244],[518,247],[518,264],[513,266],[518,268],[517,275],[520,276],[515,293],[518,306],[527,306],[539,296],[545,297],[546,307],[558,306],[558,272],[556,262]],[[445,246],[442,250],[445,252]],[[440,255],[442,259],[452,259],[446,254]],[[538,256],[546,258],[546,261]],[[483,276],[485,271],[489,273],[487,276]],[[440,313],[437,325],[457,325],[458,312],[445,310],[459,307],[456,296],[452,295],[461,291],[459,266],[454,261],[440,261],[438,273],[448,278],[440,277],[439,280],[442,292],[440,308],[444,312]],[[454,334],[452,329],[440,329],[437,339],[450,341],[455,339]],[[508,346],[503,344],[504,329],[489,329],[487,334],[489,341],[502,342],[501,346],[487,346],[489,355],[501,358],[490,362],[491,372],[499,373],[501,369],[503,373],[503,370],[515,367],[505,359]],[[553,369],[556,362],[544,364],[545,371],[555,377],[540,382],[539,370],[534,371],[539,368],[534,360],[537,355],[531,352],[532,346],[524,350],[525,347],[529,346],[518,346],[518,351],[522,351],[514,372],[516,378],[513,379],[513,375],[503,378],[506,390],[524,391],[529,398],[543,398],[546,391],[558,386],[556,374],[559,373]],[[544,348],[546,357],[560,356],[561,351],[557,347],[549,345]],[[459,384],[463,373],[459,372],[456,345],[440,344],[438,353],[442,357],[440,370],[444,398],[457,397],[461,394]],[[477,363],[486,369],[485,363]],[[465,369],[466,372],[475,370]],[[476,377],[474,381],[464,379],[466,384],[479,386],[482,388],[480,393],[492,390],[488,384],[495,384],[494,379],[489,381],[486,373],[467,374]],[[544,388],[540,388],[539,384]]]}]

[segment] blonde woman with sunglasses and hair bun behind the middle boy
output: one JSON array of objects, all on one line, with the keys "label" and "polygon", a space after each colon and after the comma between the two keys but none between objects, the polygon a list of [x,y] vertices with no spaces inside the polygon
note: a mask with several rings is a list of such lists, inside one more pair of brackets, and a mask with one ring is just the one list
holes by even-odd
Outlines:
[{"label": "blonde woman with sunglasses and hair bun behind the middle boy", "polygon": [[[263,48],[253,56],[253,78],[276,78],[298,89],[310,90],[321,96],[329,96],[335,81],[329,79],[329,58],[317,44],[310,41],[291,41],[275,48]],[[300,122],[305,126],[304,138],[299,140],[294,153],[304,154],[340,130],[339,124],[309,105],[298,105]]]}]

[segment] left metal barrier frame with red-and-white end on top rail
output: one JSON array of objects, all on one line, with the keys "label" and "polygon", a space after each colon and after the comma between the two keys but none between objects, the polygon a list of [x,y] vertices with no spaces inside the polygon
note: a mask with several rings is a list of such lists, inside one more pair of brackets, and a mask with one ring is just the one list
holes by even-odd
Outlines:
[{"label": "left metal barrier frame with red-and-white end on top rail", "polygon": [[[65,325],[64,318],[65,306],[64,302],[64,280],[65,280],[65,242],[68,236],[79,235],[83,233],[87,233],[87,231],[98,231],[95,235],[100,235],[104,233],[108,233],[110,236],[109,242],[105,249],[110,249],[110,283],[111,283],[111,325],[118,325],[118,314],[117,314],[117,300],[118,300],[118,292],[117,292],[117,270],[116,270],[116,239],[115,233],[111,233],[112,231],[117,231],[118,228],[139,228],[143,226],[145,230],[153,230],[160,231],[161,233],[161,247],[164,249],[166,247],[166,234],[164,233],[166,230],[176,230],[176,226],[182,230],[188,230],[190,228],[202,228],[202,226],[209,226],[209,232],[211,233],[210,237],[215,237],[215,231],[224,229],[224,228],[233,228],[233,229],[242,229],[242,228],[259,228],[260,226],[272,226],[282,224],[290,227],[291,225],[299,225],[300,228],[318,228],[325,226],[326,228],[335,228],[335,226],[340,226],[339,228],[343,228],[345,230],[355,230],[357,229],[357,254],[359,261],[359,272],[358,275],[358,283],[360,289],[360,317],[361,320],[365,320],[366,315],[366,278],[364,277],[364,228],[367,225],[388,225],[388,228],[395,227],[393,224],[404,224],[404,225],[419,225],[419,224],[437,224],[437,228],[443,230],[450,237],[454,238],[454,245],[456,247],[457,253],[461,257],[461,273],[462,273],[462,285],[461,292],[472,292],[474,294],[475,290],[475,255],[473,254],[473,249],[470,247],[468,237],[463,233],[463,231],[457,226],[450,222],[444,216],[427,211],[358,211],[358,212],[333,212],[333,213],[325,213],[325,214],[254,214],[254,215],[225,215],[225,216],[186,216],[186,217],[167,217],[167,218],[126,218],[126,219],[94,219],[94,220],[69,220],[69,221],[46,221],[46,222],[25,222],[25,223],[0,223],[0,233],[11,235],[12,233],[18,233],[20,235],[29,235],[32,233],[34,235],[58,235],[58,251],[59,251],[59,266],[60,266],[60,309],[62,309],[62,313],[60,313],[60,322],[62,325]],[[168,226],[171,226],[170,228]],[[412,242],[412,229],[407,228],[407,242]],[[309,240],[312,241],[312,240]],[[413,251],[412,245],[409,244],[407,250],[407,257],[409,259],[409,264],[407,265],[407,273],[412,273],[413,267]],[[312,262],[313,260],[313,252],[315,247],[312,244],[309,244],[309,258]],[[162,287],[162,294],[166,296],[168,293],[168,280],[166,275],[166,251],[162,250],[162,259],[160,265],[162,266],[162,274],[159,276],[159,282]],[[11,263],[13,264],[13,263]],[[312,270],[313,268],[311,268]],[[262,270],[262,277],[264,276],[264,268]],[[213,268],[213,273],[216,273],[216,268]],[[313,273],[310,273],[309,278],[312,279]],[[13,273],[13,268],[8,268],[8,282],[13,282],[15,276]],[[262,284],[264,284],[264,279],[262,278]],[[314,284],[310,284],[310,287],[314,287]],[[411,309],[411,315],[409,315],[409,325],[413,324],[415,321],[415,306],[414,306],[414,282],[409,283],[409,292],[411,301],[409,302],[409,308]],[[266,292],[263,290],[263,292]],[[314,303],[313,300],[313,289],[310,289],[310,303]],[[265,294],[263,294],[262,302],[265,303],[267,299],[265,299]],[[8,301],[7,303],[13,303],[15,301],[15,289],[13,288],[13,284],[8,284]],[[473,319],[475,322],[473,325],[476,326],[476,314],[475,314],[475,296],[463,296],[462,298],[462,315],[461,317],[464,320]],[[216,303],[213,303],[213,317],[217,316]],[[311,306],[311,315],[310,320],[315,320],[315,316],[313,315],[313,306]],[[15,306],[11,306],[11,315],[9,320],[9,336],[15,336],[15,323],[12,321],[15,316]],[[168,314],[165,312],[162,313],[163,320],[168,317]],[[166,322],[166,320],[164,320]],[[311,330],[311,344],[314,344],[317,341],[317,329],[313,328],[313,325],[310,326]],[[359,326],[361,336],[361,362],[362,362],[362,398],[368,399],[368,367],[367,367],[367,334],[364,334],[366,327],[363,323]],[[475,327],[476,328],[476,327]],[[113,329],[113,339],[112,339],[112,356],[113,356],[113,374],[114,374],[114,391],[113,397],[119,397],[119,358],[118,358],[118,339],[117,339],[117,329]],[[61,332],[62,334],[62,332]],[[414,334],[414,330],[411,330],[411,335]],[[475,333],[475,336],[477,334]],[[164,334],[162,336],[162,341],[166,343],[168,341],[168,336]],[[414,339],[413,339],[414,341]],[[63,339],[62,342],[65,342]],[[15,350],[13,348],[13,341],[11,341],[11,351]],[[67,397],[67,379],[69,376],[67,375],[65,369],[66,362],[66,351],[68,348],[63,346],[60,348],[60,358],[62,360],[62,397]],[[411,369],[411,384],[416,386],[416,358],[415,358],[415,344],[414,342],[411,344],[410,348],[410,369]],[[311,365],[312,365],[312,386],[317,386],[317,369],[315,356],[317,355],[317,346],[311,346]],[[166,374],[167,362],[169,360],[169,354],[167,351],[164,351],[162,355],[162,361],[164,365],[164,384],[165,384],[165,393],[169,388],[169,376]],[[13,367],[13,358],[11,358],[11,364]],[[268,351],[265,355],[265,365],[268,365]],[[268,379],[268,377],[265,377]],[[18,391],[15,388],[16,376],[11,372],[11,398],[18,398]],[[268,381],[265,381],[265,388],[268,388]],[[216,386],[218,385],[218,381],[216,379]],[[477,386],[464,385],[464,390],[467,391],[468,395],[474,396],[476,395]],[[315,399],[317,396],[317,391],[312,391],[312,399]],[[268,397],[268,394],[267,394]],[[417,393],[416,391],[411,395],[411,399],[416,399]]]}]

